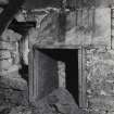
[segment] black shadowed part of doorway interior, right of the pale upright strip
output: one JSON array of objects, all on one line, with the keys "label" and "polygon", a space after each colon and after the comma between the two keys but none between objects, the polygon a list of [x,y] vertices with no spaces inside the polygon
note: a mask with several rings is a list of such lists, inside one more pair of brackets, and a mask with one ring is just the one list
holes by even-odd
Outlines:
[{"label": "black shadowed part of doorway interior, right of the pale upright strip", "polygon": [[[38,49],[43,55],[54,60],[55,62],[62,62],[64,65],[60,72],[65,72],[65,88],[72,93],[76,103],[78,104],[78,50],[77,49]],[[43,60],[42,60],[43,61]],[[49,63],[50,64],[50,63]],[[59,64],[58,64],[59,65]],[[48,65],[49,67],[51,65]],[[55,69],[55,68],[54,68]],[[59,69],[58,69],[59,71]],[[60,76],[58,76],[60,77]],[[60,79],[59,81],[62,81]]]}]

